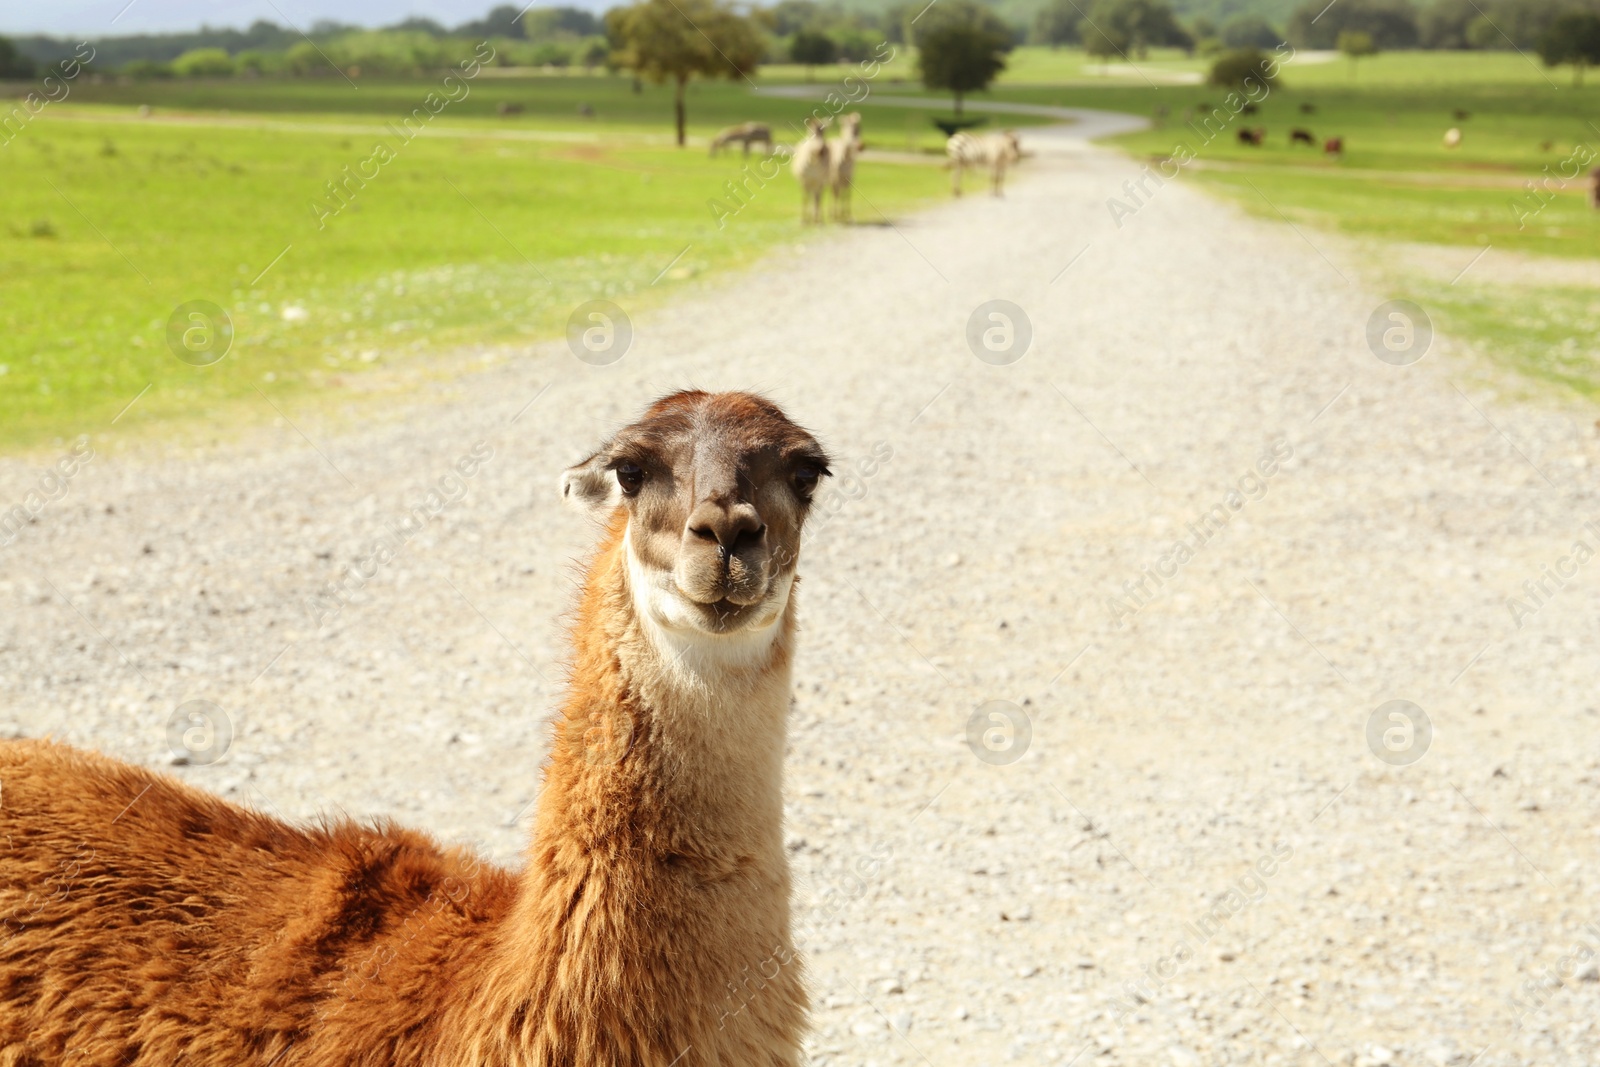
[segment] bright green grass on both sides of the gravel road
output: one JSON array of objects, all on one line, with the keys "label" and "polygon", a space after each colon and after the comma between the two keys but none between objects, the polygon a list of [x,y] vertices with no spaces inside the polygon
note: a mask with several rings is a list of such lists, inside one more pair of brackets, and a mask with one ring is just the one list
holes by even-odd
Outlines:
[{"label": "bright green grass on both sides of the gravel road", "polygon": [[[1190,179],[1270,219],[1464,250],[1600,251],[1600,213],[1586,206],[1581,182],[1555,189],[1536,214],[1523,189],[1574,147],[1600,149],[1600,86],[1571,90],[1565,70],[1515,53],[1394,53],[1354,70],[1344,59],[1298,62],[1256,115],[1205,142],[1184,122],[1222,99],[1192,83],[1203,67],[1173,51],[1123,70],[1074,50],[1019,48],[994,93],[971,98],[968,110],[981,117],[989,101],[1018,101],[1162,114],[1117,144],[1160,160],[1189,142],[1198,155]],[[821,98],[851,72],[819,69],[810,88]],[[770,69],[757,83],[786,80],[805,72]],[[725,182],[742,160],[709,160],[701,146],[752,118],[794,139],[813,102],[696,83],[698,144],[680,150],[659,86],[482,77],[424,136],[398,146],[384,123],[437,85],[83,82],[51,104],[0,147],[0,448],[104,430],[134,397],[118,429],[270,416],[258,389],[298,402],[358,394],[384,368],[426,368],[443,350],[558,338],[571,309],[592,298],[642,312],[803,234],[787,173],[755,182],[747,206],[718,226],[710,202],[733,206]],[[930,96],[909,56],[866,85],[870,146],[938,149],[931,114],[874,99]],[[1235,139],[1243,122],[1267,130],[1262,147]],[[1291,146],[1296,126],[1344,138],[1344,155]],[[1440,144],[1450,126],[1464,133],[1456,150]],[[378,141],[395,142],[395,158],[318,226],[310,205],[325,182],[368,160]],[[874,165],[869,152],[859,182],[866,221],[941,197],[946,178],[933,166]],[[189,366],[166,346],[173,309],[195,299],[227,309],[235,326],[214,366]],[[1446,328],[1512,365],[1600,392],[1595,306],[1584,293],[1458,286],[1435,301]]]}]

